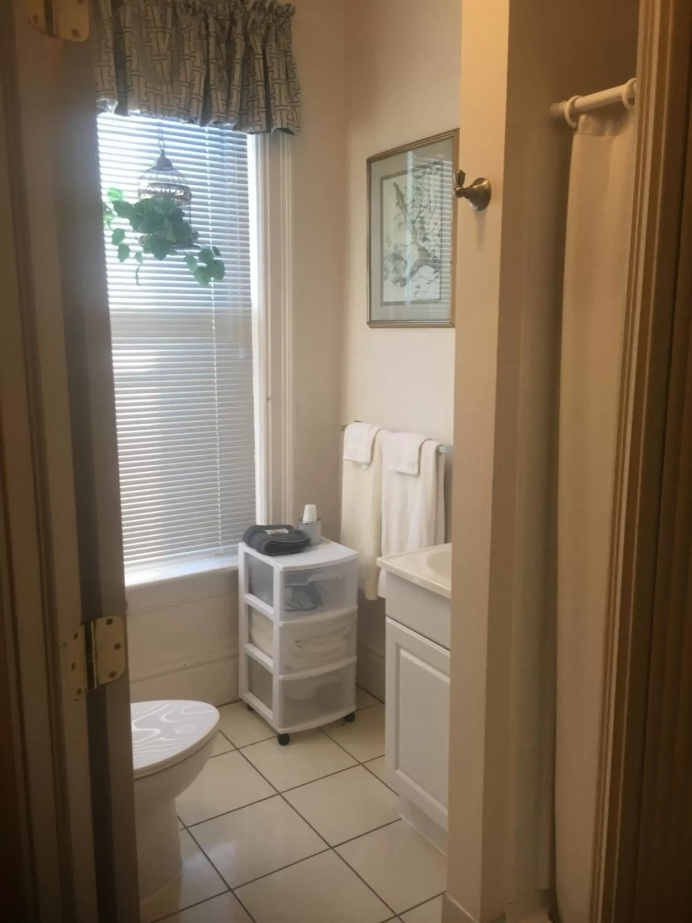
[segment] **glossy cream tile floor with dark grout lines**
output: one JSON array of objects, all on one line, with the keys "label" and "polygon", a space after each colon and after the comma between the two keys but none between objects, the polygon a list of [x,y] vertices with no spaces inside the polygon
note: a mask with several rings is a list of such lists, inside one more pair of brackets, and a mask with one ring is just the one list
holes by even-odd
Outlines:
[{"label": "glossy cream tile floor with dark grout lines", "polygon": [[292,735],[244,702],[221,708],[214,755],[178,798],[183,874],[143,923],[440,923],[446,861],[384,784],[384,705]]}]

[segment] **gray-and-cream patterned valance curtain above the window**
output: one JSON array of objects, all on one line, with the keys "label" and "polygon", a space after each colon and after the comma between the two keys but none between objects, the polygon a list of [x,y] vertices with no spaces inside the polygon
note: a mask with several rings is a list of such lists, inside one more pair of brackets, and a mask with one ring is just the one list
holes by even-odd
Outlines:
[{"label": "gray-and-cream patterned valance curtain above the window", "polygon": [[102,110],[300,131],[293,6],[276,0],[93,0]]}]

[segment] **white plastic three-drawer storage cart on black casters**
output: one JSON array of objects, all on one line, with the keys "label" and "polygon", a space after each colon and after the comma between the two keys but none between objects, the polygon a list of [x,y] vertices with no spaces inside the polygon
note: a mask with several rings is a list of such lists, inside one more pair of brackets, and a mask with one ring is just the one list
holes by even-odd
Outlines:
[{"label": "white plastic three-drawer storage cart on black casters", "polygon": [[324,540],[269,557],[240,545],[240,694],[289,743],[355,715],[358,562]]}]

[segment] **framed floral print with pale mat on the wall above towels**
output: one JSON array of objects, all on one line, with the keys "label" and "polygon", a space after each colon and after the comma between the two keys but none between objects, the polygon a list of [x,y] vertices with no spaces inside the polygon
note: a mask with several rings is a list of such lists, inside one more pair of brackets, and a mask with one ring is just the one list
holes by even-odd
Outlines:
[{"label": "framed floral print with pale mat on the wall above towels", "polygon": [[367,161],[370,327],[453,327],[459,129]]}]

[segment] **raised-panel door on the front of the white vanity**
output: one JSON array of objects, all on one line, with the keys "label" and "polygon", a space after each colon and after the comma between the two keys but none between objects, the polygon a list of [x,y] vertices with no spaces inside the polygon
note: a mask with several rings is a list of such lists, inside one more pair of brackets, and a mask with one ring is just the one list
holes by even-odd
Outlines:
[{"label": "raised-panel door on the front of the white vanity", "polygon": [[387,772],[447,829],[449,652],[387,620]]}]

